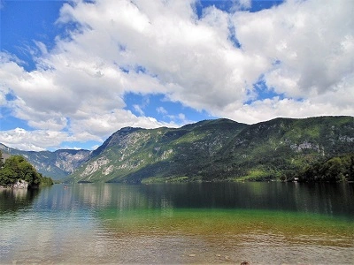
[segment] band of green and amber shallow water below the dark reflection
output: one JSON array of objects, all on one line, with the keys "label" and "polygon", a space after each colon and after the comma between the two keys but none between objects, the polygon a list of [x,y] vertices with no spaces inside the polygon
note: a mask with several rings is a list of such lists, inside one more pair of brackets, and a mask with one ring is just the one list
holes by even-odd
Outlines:
[{"label": "band of green and amber shallow water below the dark reflection", "polygon": [[[161,234],[234,237],[244,234],[282,236],[283,244],[353,246],[354,222],[345,218],[293,212],[179,208],[165,210],[105,209],[97,212],[104,226],[122,235]],[[341,239],[340,239],[341,238]],[[298,242],[297,242],[298,241]]]}]

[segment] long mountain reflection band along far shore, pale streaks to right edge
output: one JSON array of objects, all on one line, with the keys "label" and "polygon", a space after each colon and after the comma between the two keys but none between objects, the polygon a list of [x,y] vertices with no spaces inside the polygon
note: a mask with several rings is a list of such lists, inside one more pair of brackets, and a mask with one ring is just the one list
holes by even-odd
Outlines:
[{"label": "long mountain reflection band along far shore, pale streaks to right edge", "polygon": [[[354,186],[297,183],[189,183],[71,186],[89,208],[240,208],[354,216]],[[65,192],[65,191],[64,191]],[[63,201],[67,206],[73,198]]]}]

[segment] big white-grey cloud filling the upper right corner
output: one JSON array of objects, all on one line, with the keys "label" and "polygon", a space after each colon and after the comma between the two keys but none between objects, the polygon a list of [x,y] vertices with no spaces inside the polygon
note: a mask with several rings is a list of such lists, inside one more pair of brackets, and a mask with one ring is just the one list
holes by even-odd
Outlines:
[{"label": "big white-grey cloud filling the upper right corner", "polygon": [[271,10],[235,13],[234,21],[246,53],[280,62],[266,72],[269,87],[312,98],[333,91],[354,71],[353,10],[346,0],[288,1]]}]

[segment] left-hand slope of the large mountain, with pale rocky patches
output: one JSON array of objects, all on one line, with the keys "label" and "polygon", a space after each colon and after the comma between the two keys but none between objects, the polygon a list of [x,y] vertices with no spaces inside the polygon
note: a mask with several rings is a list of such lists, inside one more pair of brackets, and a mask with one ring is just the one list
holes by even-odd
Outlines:
[{"label": "left-hand slope of the large mountain, with pale rocky patches", "polygon": [[204,165],[247,126],[218,119],[178,129],[123,128],[66,180],[137,183],[146,178],[200,177]]}]

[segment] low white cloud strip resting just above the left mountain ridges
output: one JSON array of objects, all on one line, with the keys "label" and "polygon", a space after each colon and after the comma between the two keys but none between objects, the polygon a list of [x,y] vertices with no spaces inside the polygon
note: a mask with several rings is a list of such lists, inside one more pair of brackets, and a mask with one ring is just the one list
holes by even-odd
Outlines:
[{"label": "low white cloud strip resting just above the left mountain ridges", "polygon": [[105,139],[99,135],[110,135],[123,127],[157,128],[161,126],[176,127],[174,123],[161,123],[152,117],[136,117],[129,110],[116,110],[112,115],[94,115],[83,120],[71,122],[71,132],[52,130],[27,131],[16,128],[0,131],[0,142],[11,148],[21,150],[42,151],[48,148],[60,147],[63,141],[85,142]]}]

